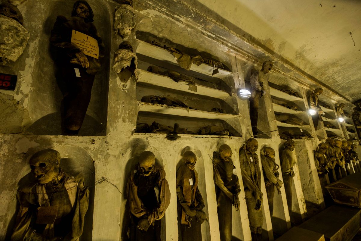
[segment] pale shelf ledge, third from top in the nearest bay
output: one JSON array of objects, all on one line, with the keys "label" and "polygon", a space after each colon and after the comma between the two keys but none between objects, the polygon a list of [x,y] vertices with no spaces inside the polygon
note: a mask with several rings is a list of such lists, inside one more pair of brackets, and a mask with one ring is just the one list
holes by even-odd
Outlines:
[{"label": "pale shelf ledge, third from top in the nearest bay", "polygon": [[164,115],[184,116],[184,117],[193,117],[193,118],[202,118],[202,119],[227,120],[235,117],[240,117],[240,115],[199,111],[196,109],[173,107],[173,106],[167,106],[161,104],[151,104],[145,102],[139,102],[138,107],[139,107],[139,111],[141,112],[151,112],[151,113],[159,113]]}]

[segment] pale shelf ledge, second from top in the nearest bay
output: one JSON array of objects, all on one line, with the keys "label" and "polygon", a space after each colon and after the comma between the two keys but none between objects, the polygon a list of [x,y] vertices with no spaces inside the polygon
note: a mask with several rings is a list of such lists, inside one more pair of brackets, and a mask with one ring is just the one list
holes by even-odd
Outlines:
[{"label": "pale shelf ledge, second from top in the nearest bay", "polygon": [[196,85],[197,92],[195,92],[189,90],[188,82],[186,81],[175,82],[173,81],[173,79],[166,76],[162,76],[160,74],[154,74],[141,69],[137,69],[137,71],[138,71],[138,83],[142,83],[145,85],[156,85],[168,89],[180,90],[187,93],[205,95],[218,99],[230,97],[230,94],[223,90],[213,89],[202,85]]}]

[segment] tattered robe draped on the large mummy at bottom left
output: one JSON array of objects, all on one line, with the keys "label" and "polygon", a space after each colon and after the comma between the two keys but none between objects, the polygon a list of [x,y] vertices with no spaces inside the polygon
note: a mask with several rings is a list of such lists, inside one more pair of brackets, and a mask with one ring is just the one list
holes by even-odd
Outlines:
[{"label": "tattered robe draped on the large mummy at bottom left", "polygon": [[[53,237],[54,224],[36,224],[38,228],[41,228],[40,226],[44,228],[46,225],[42,233],[35,228],[38,207],[50,206],[45,185],[47,184],[36,182],[18,190],[17,198],[20,208],[11,240],[45,240],[44,238],[50,240]],[[77,241],[83,233],[84,216],[88,210],[89,190],[84,186],[84,178],[81,174],[73,177],[64,173],[64,187],[73,207],[71,232],[64,233],[64,240]]]}]

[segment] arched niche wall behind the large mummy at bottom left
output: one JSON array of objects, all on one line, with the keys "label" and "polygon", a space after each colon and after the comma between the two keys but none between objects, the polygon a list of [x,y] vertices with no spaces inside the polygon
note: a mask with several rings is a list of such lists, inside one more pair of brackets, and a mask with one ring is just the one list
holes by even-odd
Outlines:
[{"label": "arched niche wall behind the large mummy at bottom left", "polygon": [[[38,149],[36,151],[40,151],[43,149]],[[94,192],[95,192],[95,188],[94,188],[95,168],[94,168],[93,160],[90,157],[90,155],[81,147],[63,145],[63,146],[51,147],[51,149],[54,149],[60,153],[61,156],[60,167],[62,168],[62,170],[73,176],[76,175],[77,173],[81,173],[84,176],[84,185],[89,187],[89,191],[90,191],[89,206],[84,219],[83,234],[79,238],[79,240],[80,241],[92,240],[93,212],[94,212],[93,208],[94,208]],[[27,159],[30,159],[30,157],[31,155],[29,155]],[[34,175],[30,172],[20,179],[20,181],[18,182],[18,186],[29,185],[32,182],[37,182],[37,180],[34,177]],[[13,232],[15,218],[18,213],[18,210],[19,210],[19,204],[17,203],[16,212],[12,218],[12,221],[9,224],[8,231],[6,234],[6,237],[9,238],[9,240]]]}]

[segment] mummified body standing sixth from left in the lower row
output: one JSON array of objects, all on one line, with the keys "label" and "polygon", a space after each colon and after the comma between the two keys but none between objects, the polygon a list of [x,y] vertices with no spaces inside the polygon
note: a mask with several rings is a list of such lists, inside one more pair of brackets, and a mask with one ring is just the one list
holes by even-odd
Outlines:
[{"label": "mummified body standing sixth from left in the lower row", "polygon": [[268,206],[270,208],[270,213],[272,216],[274,189],[276,188],[278,194],[281,194],[280,188],[283,182],[279,180],[279,172],[277,171],[279,165],[277,165],[274,159],[275,151],[271,147],[265,147],[265,149],[263,149],[263,152],[264,155],[261,158],[261,163],[266,184]]}]

